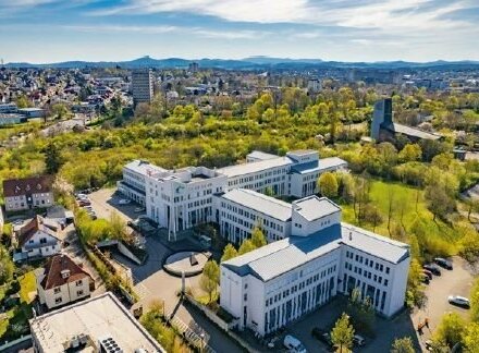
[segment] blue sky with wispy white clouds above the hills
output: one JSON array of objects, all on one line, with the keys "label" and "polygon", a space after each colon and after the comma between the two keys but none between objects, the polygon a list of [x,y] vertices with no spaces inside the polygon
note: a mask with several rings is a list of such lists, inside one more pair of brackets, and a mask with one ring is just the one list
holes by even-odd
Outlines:
[{"label": "blue sky with wispy white clouds above the hills", "polygon": [[479,60],[479,0],[0,0],[4,62]]}]

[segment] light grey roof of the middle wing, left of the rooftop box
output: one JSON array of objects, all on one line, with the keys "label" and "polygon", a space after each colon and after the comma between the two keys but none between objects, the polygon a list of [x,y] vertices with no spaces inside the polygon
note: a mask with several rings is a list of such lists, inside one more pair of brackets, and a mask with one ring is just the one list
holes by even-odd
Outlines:
[{"label": "light grey roof of the middle wing, left of the rooftop box", "polygon": [[291,204],[251,190],[233,188],[224,193],[221,197],[281,221],[291,219]]}]

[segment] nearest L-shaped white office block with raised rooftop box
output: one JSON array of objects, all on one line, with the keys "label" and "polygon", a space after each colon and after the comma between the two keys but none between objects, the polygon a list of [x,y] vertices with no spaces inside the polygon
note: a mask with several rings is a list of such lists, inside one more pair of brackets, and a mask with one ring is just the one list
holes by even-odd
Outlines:
[{"label": "nearest L-shaped white office block with raised rooftop box", "polygon": [[358,288],[378,313],[404,305],[409,247],[342,223],[327,198],[292,204],[291,235],[221,264],[221,306],[263,336]]}]

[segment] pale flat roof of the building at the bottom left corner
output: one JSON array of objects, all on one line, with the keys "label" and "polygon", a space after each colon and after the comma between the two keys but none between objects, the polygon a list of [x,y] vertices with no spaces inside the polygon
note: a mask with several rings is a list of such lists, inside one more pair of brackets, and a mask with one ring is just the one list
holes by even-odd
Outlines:
[{"label": "pale flat roof of the building at the bottom left corner", "polygon": [[123,352],[165,352],[111,292],[38,316],[29,324],[44,352],[64,352],[64,344],[79,334],[97,345],[100,338],[111,337]]}]

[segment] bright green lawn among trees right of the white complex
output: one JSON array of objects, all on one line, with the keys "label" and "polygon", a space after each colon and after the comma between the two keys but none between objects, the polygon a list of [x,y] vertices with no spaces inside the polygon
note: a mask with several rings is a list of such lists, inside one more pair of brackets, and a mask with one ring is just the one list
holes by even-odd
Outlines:
[{"label": "bright green lawn among trees right of the white complex", "polygon": [[373,229],[372,224],[364,222],[358,224],[352,205],[341,205],[343,208],[343,220],[371,231],[373,230],[378,234],[390,236],[388,230],[388,214],[390,199],[392,199],[391,229],[393,230],[395,227],[398,228],[398,226],[405,229],[404,238],[394,236],[394,232],[392,232],[393,238],[407,241],[407,235],[412,232],[419,233],[423,236],[423,241],[426,242],[449,243],[449,253],[451,255],[457,252],[456,243],[462,235],[457,230],[457,226],[463,224],[463,222],[458,220],[455,222],[455,228],[453,228],[439,219],[433,221],[433,215],[426,206],[422,190],[401,183],[374,180],[371,183],[369,196],[371,204],[378,207],[383,218],[382,222],[377,224],[376,229]]}]

